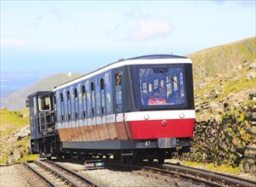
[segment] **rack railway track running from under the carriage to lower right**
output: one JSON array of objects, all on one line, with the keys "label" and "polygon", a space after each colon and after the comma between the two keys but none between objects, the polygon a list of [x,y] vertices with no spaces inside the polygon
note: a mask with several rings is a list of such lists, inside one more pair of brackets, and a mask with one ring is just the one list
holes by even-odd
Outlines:
[{"label": "rack railway track running from under the carriage to lower right", "polygon": [[[245,178],[238,178],[236,176],[228,175],[225,173],[217,173],[204,169],[185,167],[177,164],[159,164],[159,163],[145,163],[143,165],[127,165],[116,162],[108,163],[117,167],[130,167],[147,171],[150,173],[158,173],[172,178],[181,178],[179,182],[175,182],[175,186],[191,186],[191,185],[202,185],[202,186],[239,186],[239,187],[256,187],[256,181],[247,180]],[[166,179],[167,180],[167,179]],[[191,184],[185,184],[190,182]]]}]

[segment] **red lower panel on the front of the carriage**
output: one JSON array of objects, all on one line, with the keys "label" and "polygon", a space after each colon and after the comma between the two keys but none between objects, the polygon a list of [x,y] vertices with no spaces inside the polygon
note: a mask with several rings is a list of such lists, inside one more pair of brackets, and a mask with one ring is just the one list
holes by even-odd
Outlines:
[{"label": "red lower panel on the front of the carriage", "polygon": [[195,119],[127,122],[131,139],[192,137]]}]

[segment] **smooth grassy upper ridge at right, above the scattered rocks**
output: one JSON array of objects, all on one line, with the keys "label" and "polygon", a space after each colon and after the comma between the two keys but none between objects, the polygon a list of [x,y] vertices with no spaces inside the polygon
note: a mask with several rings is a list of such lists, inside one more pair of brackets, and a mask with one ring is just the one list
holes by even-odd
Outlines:
[{"label": "smooth grassy upper ridge at right, above the scattered rocks", "polygon": [[[256,37],[225,45],[207,48],[187,56],[193,60],[193,75],[196,86],[206,77],[234,77],[234,69],[239,65],[255,64]],[[246,76],[246,72],[238,72]],[[198,88],[198,87],[196,87]]]}]

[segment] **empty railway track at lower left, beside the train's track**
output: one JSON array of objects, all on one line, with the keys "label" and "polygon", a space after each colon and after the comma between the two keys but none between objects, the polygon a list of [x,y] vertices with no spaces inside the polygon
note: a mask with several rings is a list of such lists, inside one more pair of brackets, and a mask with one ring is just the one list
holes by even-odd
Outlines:
[{"label": "empty railway track at lower left, beside the train's track", "polygon": [[97,186],[97,184],[94,184],[94,182],[88,178],[82,177],[71,171],[71,169],[60,166],[60,164],[54,161],[36,160],[26,162],[25,164],[34,173],[37,173],[40,178],[43,178],[50,186]]}]

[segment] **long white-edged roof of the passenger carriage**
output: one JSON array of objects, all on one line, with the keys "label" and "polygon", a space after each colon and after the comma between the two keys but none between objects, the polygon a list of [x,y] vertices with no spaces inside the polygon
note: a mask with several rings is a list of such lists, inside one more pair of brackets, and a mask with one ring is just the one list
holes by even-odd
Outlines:
[{"label": "long white-edged roof of the passenger carriage", "polygon": [[[142,62],[143,59],[162,59],[163,61],[165,61],[166,59],[179,59],[181,62],[185,63],[185,60],[186,60],[186,63],[191,63],[191,60],[190,61],[187,61],[187,57],[185,56],[179,56],[179,55],[173,55],[173,54],[150,54],[150,55],[143,55],[143,56],[138,56],[138,57],[134,57],[134,58],[130,58],[130,59],[119,59],[117,60],[116,62],[113,62],[111,64],[108,64],[108,65],[105,65],[103,67],[101,67],[100,69],[98,70],[95,70],[95,71],[91,71],[89,72],[88,74],[85,74],[85,75],[82,75],[82,77],[78,77],[77,79],[75,80],[72,80],[70,82],[73,82],[73,83],[76,83],[76,82],[80,82],[84,79],[84,77],[93,77],[94,75],[96,75],[97,73],[100,73],[101,71],[107,71],[109,69],[112,69],[112,68],[116,68],[116,67],[119,67],[119,66],[122,66],[122,65],[138,65],[138,64],[144,64]],[[127,62],[127,63],[125,63]],[[151,64],[155,64],[155,61],[151,61]],[[60,88],[63,88],[65,87],[65,85],[67,86],[67,84],[69,84],[70,82],[65,82],[63,84],[60,84],[58,86],[56,86],[54,88],[54,91],[60,89]]]}]

